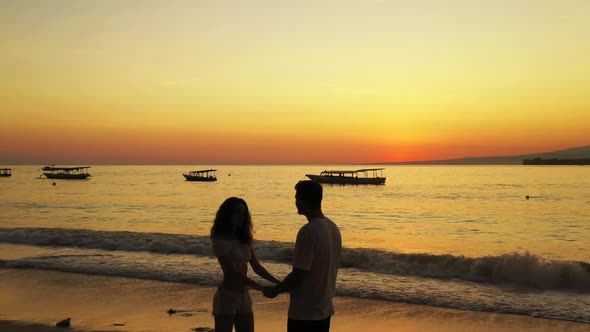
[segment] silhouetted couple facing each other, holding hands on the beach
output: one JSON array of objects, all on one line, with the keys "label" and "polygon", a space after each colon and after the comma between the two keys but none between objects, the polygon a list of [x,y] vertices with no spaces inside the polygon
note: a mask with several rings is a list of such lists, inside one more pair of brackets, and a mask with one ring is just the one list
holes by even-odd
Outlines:
[{"label": "silhouetted couple facing each other, holding hands on the beach", "polygon": [[[230,197],[221,204],[211,228],[213,253],[223,271],[213,299],[215,331],[231,332],[234,327],[236,332],[254,331],[249,288],[262,291],[268,298],[290,293],[288,332],[330,330],[342,238],[338,226],[322,212],[322,196],[319,183],[300,181],[295,186],[297,213],[307,218],[307,224],[297,233],[293,269],[282,281],[256,258],[246,202]],[[263,286],[248,278],[248,263],[274,285]]]}]

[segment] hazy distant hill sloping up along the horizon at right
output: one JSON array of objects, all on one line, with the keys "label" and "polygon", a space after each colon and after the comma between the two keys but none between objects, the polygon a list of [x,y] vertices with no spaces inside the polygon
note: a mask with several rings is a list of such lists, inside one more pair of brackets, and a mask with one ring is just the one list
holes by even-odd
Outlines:
[{"label": "hazy distant hill sloping up along the horizon at right", "polygon": [[460,158],[444,160],[420,160],[406,162],[382,162],[373,165],[522,165],[523,159],[587,159],[590,158],[590,145],[559,150],[515,156],[493,156],[477,158]]}]

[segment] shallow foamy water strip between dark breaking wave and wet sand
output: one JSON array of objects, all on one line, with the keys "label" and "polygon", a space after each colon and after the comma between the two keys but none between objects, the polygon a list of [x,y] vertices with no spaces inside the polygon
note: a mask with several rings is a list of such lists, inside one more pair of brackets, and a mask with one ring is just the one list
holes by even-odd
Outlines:
[{"label": "shallow foamy water strip between dark breaking wave and wet sand", "polygon": [[[207,286],[217,285],[222,276],[217,260],[207,256],[78,248],[52,248],[50,251],[48,255],[0,259],[0,268],[55,270]],[[264,266],[279,278],[290,271],[290,266],[283,263],[265,262]],[[254,273],[250,277],[265,283]],[[590,295],[574,292],[523,292],[457,279],[384,275],[343,268],[338,273],[336,293],[398,303],[590,322],[587,310]]]}]

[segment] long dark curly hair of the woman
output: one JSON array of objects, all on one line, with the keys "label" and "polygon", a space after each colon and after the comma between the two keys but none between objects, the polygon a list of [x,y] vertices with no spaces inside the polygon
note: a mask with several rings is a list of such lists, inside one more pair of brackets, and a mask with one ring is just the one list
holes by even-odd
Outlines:
[{"label": "long dark curly hair of the woman", "polygon": [[[244,206],[244,221],[240,227],[234,230],[231,219],[238,205]],[[222,235],[235,235],[241,243],[252,243],[252,217],[250,217],[250,209],[245,200],[239,197],[230,197],[221,203],[215,215],[213,227],[211,227],[211,238]]]}]

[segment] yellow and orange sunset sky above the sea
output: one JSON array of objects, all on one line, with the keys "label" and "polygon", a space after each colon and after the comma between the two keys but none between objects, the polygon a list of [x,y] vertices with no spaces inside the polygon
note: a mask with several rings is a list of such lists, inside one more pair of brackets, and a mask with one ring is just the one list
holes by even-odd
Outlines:
[{"label": "yellow and orange sunset sky above the sea", "polygon": [[0,164],[590,144],[590,1],[0,1]]}]

